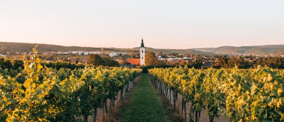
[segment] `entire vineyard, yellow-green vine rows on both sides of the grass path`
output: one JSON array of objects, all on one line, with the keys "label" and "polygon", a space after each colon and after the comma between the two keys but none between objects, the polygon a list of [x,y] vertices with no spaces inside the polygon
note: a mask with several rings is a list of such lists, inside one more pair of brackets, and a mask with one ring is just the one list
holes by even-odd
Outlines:
[{"label": "entire vineyard, yellow-green vine rows on both sides of the grass path", "polygon": [[[142,69],[41,61],[36,58],[36,47],[34,53],[30,61],[0,58],[1,122],[95,122],[98,113],[108,113],[123,99],[142,73]],[[148,72],[185,122],[284,121],[283,69],[185,66]],[[121,114],[124,121],[131,122],[137,113],[141,115],[138,120],[162,121],[157,118],[163,118],[165,110],[154,92],[147,75],[142,75],[128,104],[131,109]],[[201,116],[204,110],[208,119]]]}]

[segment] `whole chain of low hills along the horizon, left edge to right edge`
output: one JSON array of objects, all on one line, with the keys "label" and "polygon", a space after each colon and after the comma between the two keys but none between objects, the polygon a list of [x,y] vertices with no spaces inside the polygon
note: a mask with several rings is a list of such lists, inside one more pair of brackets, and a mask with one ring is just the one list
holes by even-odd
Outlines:
[{"label": "whole chain of low hills along the horizon, left edge to right edge", "polygon": [[[35,43],[0,42],[0,53],[29,52]],[[102,47],[60,46],[53,44],[39,44],[38,51],[100,51]],[[262,46],[221,46],[217,48],[191,48],[191,49],[155,49],[145,47],[146,52],[179,53],[179,54],[248,54],[248,55],[284,55],[284,44]],[[134,48],[103,48],[106,52],[139,53],[140,47]]]}]

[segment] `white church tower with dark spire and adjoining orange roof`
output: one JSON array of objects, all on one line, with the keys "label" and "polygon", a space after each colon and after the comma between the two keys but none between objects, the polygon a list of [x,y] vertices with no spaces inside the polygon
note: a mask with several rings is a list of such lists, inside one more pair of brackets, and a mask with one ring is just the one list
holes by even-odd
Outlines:
[{"label": "white church tower with dark spire and adjoining orange roof", "polygon": [[142,38],[140,46],[140,59],[126,59],[126,62],[132,65],[144,65],[145,64],[145,46]]}]

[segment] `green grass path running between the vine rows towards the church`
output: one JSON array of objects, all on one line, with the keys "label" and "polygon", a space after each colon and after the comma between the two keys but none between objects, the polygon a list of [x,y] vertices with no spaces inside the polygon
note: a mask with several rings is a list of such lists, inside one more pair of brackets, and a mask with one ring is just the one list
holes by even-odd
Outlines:
[{"label": "green grass path running between the vine rows towards the church", "polygon": [[133,89],[130,101],[121,111],[122,122],[166,122],[166,110],[150,83],[147,74],[142,74],[140,81]]}]

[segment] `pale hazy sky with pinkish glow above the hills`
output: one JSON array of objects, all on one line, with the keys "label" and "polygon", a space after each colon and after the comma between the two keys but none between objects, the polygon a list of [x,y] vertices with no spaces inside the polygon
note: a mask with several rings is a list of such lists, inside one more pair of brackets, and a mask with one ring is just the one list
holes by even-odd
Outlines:
[{"label": "pale hazy sky with pinkish glow above the hills", "polygon": [[284,44],[284,0],[0,0],[0,41],[66,46]]}]

